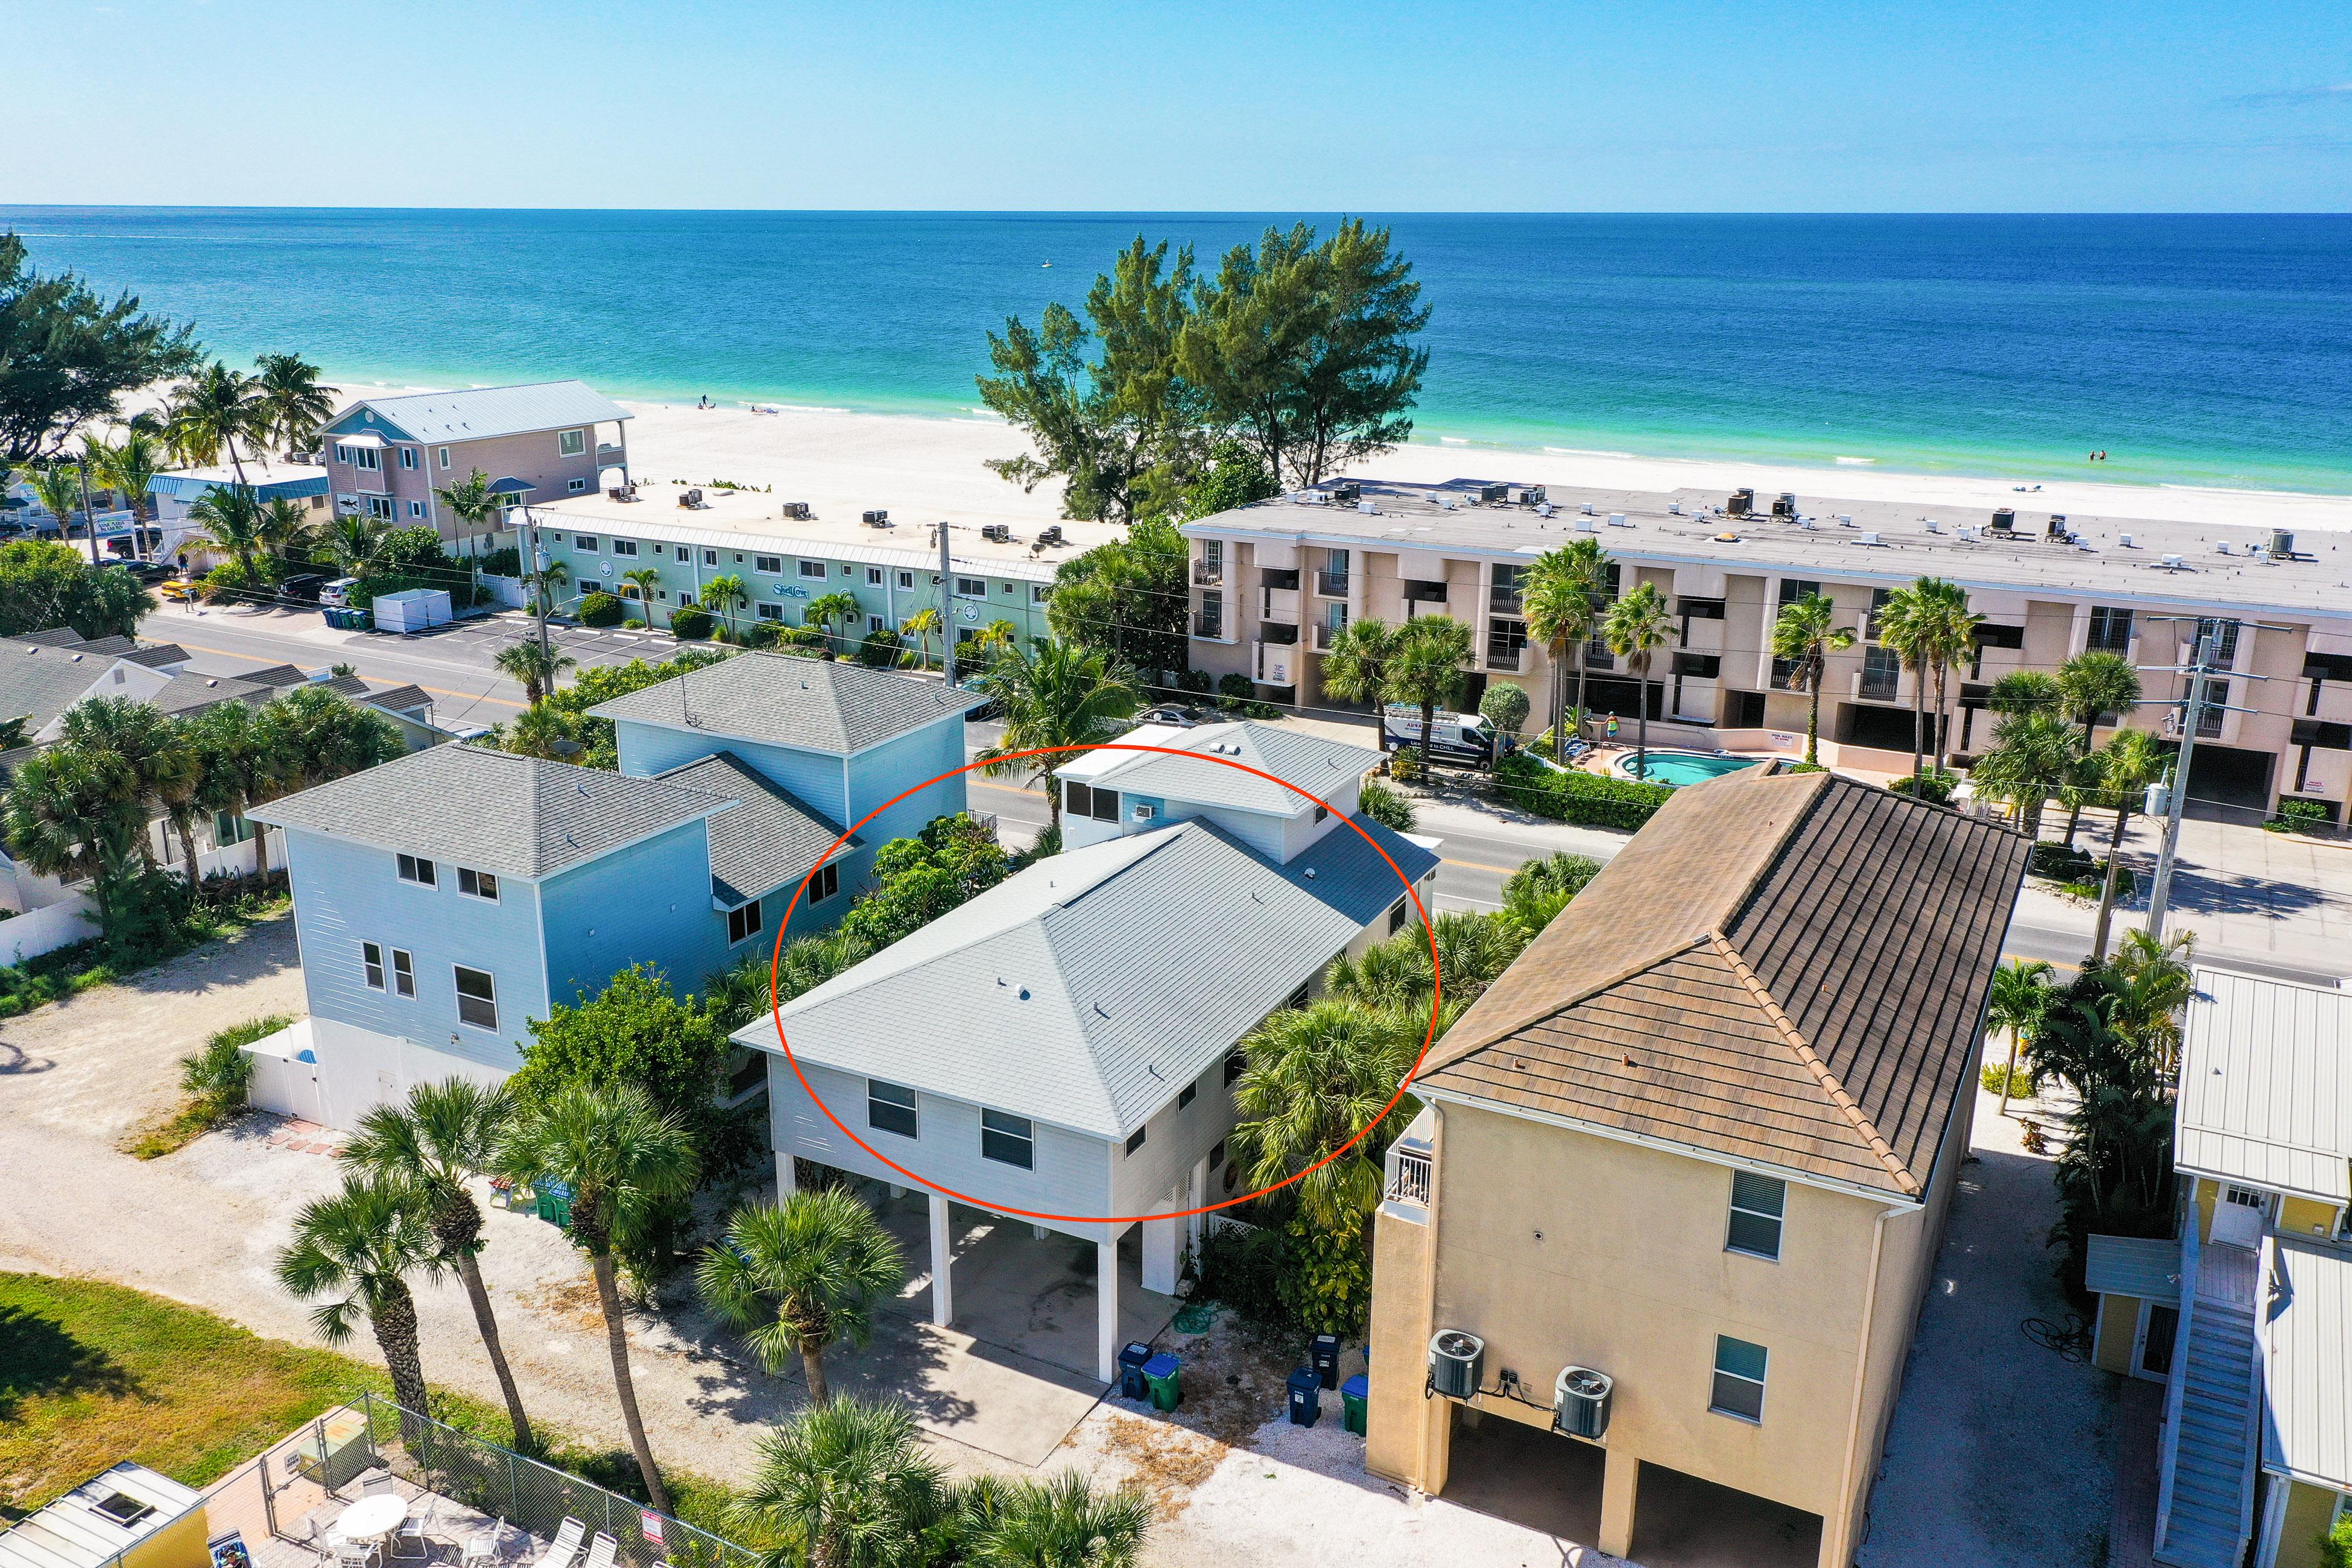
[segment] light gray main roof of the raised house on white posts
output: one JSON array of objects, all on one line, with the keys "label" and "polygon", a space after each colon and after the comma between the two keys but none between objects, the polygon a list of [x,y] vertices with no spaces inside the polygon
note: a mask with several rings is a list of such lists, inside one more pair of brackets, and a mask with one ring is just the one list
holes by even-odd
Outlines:
[{"label": "light gray main roof of the raised house on white posts", "polygon": [[[1409,879],[1437,865],[1355,820]],[[1345,825],[1275,865],[1176,823],[1030,865],[788,1001],[783,1025],[830,1067],[1124,1138],[1402,896]],[[736,1041],[776,1051],[776,1030]]]}]

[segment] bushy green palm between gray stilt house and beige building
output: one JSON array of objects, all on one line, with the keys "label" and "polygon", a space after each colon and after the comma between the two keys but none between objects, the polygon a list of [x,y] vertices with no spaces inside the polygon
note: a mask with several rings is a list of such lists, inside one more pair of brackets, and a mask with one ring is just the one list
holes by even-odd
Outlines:
[{"label": "bushy green palm between gray stilt house and beige building", "polygon": [[[1319,997],[1261,1023],[1242,1041],[1232,1086],[1235,1154],[1256,1187],[1296,1175],[1371,1126],[1421,1053],[1428,1018]],[[1402,1128],[1414,1117],[1406,1103]],[[1376,1128],[1298,1182],[1301,1206],[1327,1227],[1364,1222],[1381,1201],[1388,1138]]]}]

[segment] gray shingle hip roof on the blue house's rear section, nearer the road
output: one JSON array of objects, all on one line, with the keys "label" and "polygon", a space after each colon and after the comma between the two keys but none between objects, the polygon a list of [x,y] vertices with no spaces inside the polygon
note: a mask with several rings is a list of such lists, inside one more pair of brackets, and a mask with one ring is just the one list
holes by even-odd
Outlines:
[{"label": "gray shingle hip roof on the blue house's rear section, nearer the road", "polygon": [[[807,752],[858,752],[976,705],[936,679],[833,658],[736,654],[588,712]],[[1230,769],[1228,769],[1230,771]]]}]

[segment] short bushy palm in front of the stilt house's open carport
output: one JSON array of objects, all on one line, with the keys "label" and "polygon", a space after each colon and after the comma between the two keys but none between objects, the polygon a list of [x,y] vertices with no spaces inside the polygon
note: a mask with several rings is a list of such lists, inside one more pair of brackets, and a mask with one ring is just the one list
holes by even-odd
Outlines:
[{"label": "short bushy palm in front of the stilt house's open carport", "polygon": [[696,1272],[703,1300],[743,1331],[769,1373],[800,1356],[809,1403],[830,1399],[826,1347],[849,1340],[863,1349],[875,1302],[903,1279],[898,1244],[847,1187],[739,1208],[727,1241],[706,1251]]}]

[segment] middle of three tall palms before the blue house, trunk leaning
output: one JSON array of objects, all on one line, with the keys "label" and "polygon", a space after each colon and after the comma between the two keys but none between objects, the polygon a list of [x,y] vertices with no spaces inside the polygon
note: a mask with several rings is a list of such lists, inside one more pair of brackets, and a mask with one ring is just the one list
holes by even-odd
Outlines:
[{"label": "middle of three tall palms before the blue house, trunk leaning", "polygon": [[[499,1128],[506,1124],[506,1091],[485,1088],[473,1079],[416,1084],[407,1105],[376,1105],[360,1117],[358,1135],[343,1145],[343,1164],[381,1182],[397,1182],[423,1194],[426,1225],[440,1260],[456,1269],[473,1302],[473,1324],[482,1349],[499,1373],[506,1396],[506,1420],[515,1427],[515,1448],[534,1453],[532,1420],[522,1413],[515,1373],[506,1366],[499,1342],[499,1319],[482,1288],[482,1208],[466,1187],[492,1166]],[[402,1401],[407,1403],[407,1401]]]}]

